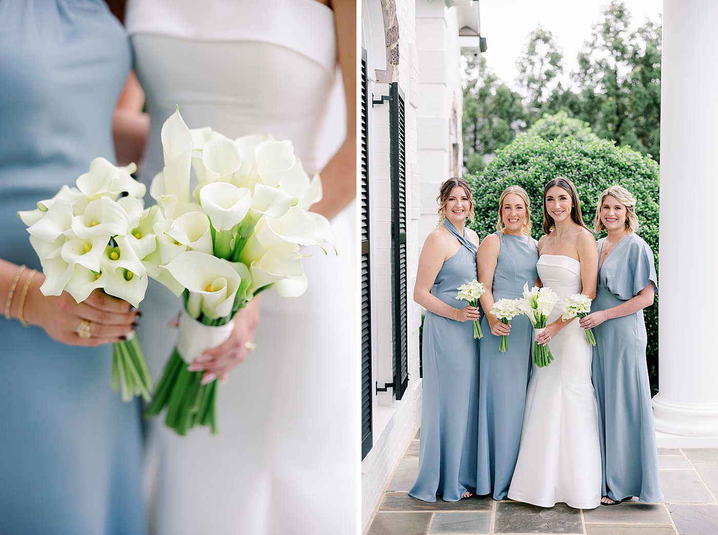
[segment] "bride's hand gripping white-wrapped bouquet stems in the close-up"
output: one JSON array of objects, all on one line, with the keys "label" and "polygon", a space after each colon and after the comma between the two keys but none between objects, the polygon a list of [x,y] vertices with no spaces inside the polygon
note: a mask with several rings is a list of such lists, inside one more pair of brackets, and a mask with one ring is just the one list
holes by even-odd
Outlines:
[{"label": "bride's hand gripping white-wrapped bouquet stems in the close-up", "polygon": [[190,371],[204,371],[202,384],[220,378],[226,380],[229,371],[244,362],[254,349],[252,342],[259,327],[259,301],[256,297],[234,317],[234,330],[225,343],[205,350],[190,365]]}]

